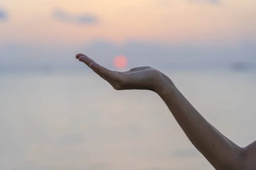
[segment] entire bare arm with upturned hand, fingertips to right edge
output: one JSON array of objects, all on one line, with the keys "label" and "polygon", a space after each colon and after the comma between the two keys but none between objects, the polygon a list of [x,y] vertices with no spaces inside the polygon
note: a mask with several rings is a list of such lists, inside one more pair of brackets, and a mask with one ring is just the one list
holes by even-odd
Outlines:
[{"label": "entire bare arm with upturned hand, fingertips to right edge", "polygon": [[221,134],[189,103],[172,80],[151,67],[111,71],[85,56],[76,58],[89,66],[116,90],[150,90],[166,103],[190,142],[216,170],[256,170],[256,141],[239,147]]}]

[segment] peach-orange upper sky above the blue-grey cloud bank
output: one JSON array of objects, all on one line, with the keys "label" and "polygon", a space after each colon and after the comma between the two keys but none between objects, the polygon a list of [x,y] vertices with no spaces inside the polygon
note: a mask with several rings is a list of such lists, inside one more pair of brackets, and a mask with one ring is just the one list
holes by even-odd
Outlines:
[{"label": "peach-orange upper sky above the blue-grey cloud bank", "polygon": [[256,43],[255,8],[255,0],[1,0],[0,52],[98,41],[232,51]]}]

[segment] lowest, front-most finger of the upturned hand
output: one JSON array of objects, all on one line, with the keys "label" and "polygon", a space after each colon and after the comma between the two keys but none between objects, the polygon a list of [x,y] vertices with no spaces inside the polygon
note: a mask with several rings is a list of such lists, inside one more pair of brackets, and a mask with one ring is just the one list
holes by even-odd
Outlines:
[{"label": "lowest, front-most finger of the upturned hand", "polygon": [[119,74],[117,74],[115,71],[108,70],[107,68],[102,67],[96,62],[91,62],[89,67],[107,81],[114,80],[116,82],[119,82],[121,80]]}]

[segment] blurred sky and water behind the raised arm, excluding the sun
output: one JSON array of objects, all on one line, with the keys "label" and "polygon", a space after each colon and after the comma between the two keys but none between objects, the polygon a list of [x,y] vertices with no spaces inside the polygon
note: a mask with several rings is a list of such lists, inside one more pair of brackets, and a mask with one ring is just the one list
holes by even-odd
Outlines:
[{"label": "blurred sky and water behind the raised arm, excluding the sun", "polygon": [[[0,0],[1,170],[213,170],[159,96],[75,59],[151,66],[241,147],[256,139],[255,0]],[[116,65],[115,57],[127,63]]]}]

